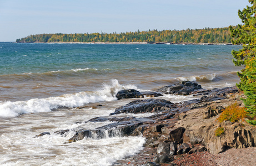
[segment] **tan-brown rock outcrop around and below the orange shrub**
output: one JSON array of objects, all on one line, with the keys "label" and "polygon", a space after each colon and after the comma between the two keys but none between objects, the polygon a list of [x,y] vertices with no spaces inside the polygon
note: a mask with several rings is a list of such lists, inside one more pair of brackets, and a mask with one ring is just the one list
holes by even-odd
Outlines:
[{"label": "tan-brown rock outcrop around and below the orange shrub", "polygon": [[[184,127],[184,135],[189,137],[190,143],[203,144],[210,153],[217,154],[224,152],[228,148],[245,148],[255,145],[256,128],[244,123],[234,123],[229,121],[218,123],[217,118],[223,107],[234,103],[233,98],[209,102],[207,108],[196,108],[186,112],[186,118],[179,120],[176,127]],[[208,110],[210,118],[203,118],[204,111]],[[213,116],[215,115],[215,116]],[[207,116],[208,117],[208,116]],[[222,126],[225,132],[222,136],[215,136],[217,127]]]}]

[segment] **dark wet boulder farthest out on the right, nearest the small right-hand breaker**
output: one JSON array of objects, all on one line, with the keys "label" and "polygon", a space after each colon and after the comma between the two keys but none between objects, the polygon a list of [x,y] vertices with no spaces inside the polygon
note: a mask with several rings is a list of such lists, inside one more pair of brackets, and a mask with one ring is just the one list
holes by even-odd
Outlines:
[{"label": "dark wet boulder farthest out on the right, nearest the small right-hand breaker", "polygon": [[190,95],[194,90],[198,89],[202,89],[202,86],[194,82],[182,81],[180,84],[164,86],[157,91],[173,95]]}]

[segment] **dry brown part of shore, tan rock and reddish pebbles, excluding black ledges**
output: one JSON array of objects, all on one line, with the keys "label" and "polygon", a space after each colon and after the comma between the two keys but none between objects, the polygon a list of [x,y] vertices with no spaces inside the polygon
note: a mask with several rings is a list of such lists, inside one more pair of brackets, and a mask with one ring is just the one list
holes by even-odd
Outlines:
[{"label": "dry brown part of shore, tan rock and reddish pebbles, excluding black ledges", "polygon": [[[202,93],[200,95],[203,96],[199,103],[189,103],[185,106],[189,108],[188,110],[177,112],[170,119],[158,118],[155,123],[141,129],[143,137],[146,138],[144,148],[139,153],[119,159],[112,165],[130,163],[134,165],[217,166],[232,163],[232,165],[249,166],[252,164],[253,158],[256,157],[255,139],[253,139],[256,136],[255,127],[243,121],[235,123],[224,121],[219,123],[217,118],[223,110],[216,114],[211,114],[211,111],[208,112],[209,109],[212,109],[212,111],[215,108],[223,109],[235,102],[243,105],[240,100],[240,97],[244,96],[243,93],[238,91],[236,87],[218,89],[215,92],[205,91],[208,91],[209,94],[214,94],[215,92],[220,92],[221,94],[213,98],[207,97],[208,99],[204,101],[206,93],[204,91],[202,91],[203,93],[196,92],[195,95]],[[217,99],[216,97],[219,98]],[[220,137],[214,135],[215,129],[219,126],[225,128],[224,134]],[[184,132],[179,133],[181,128],[184,129]],[[244,135],[241,131],[249,134]],[[182,141],[180,146],[178,145],[178,149],[184,144],[184,146],[190,147],[190,151],[182,154],[177,151],[177,153],[174,152],[175,155],[169,156],[171,148],[169,151],[167,149],[170,142],[178,142],[179,139],[182,139]],[[242,139],[245,141],[240,141]],[[199,150],[199,148],[204,149]],[[191,151],[192,153],[190,153]],[[247,157],[247,152],[250,153],[250,157]],[[164,155],[166,157],[163,157]],[[239,160],[237,156],[239,156]]]}]

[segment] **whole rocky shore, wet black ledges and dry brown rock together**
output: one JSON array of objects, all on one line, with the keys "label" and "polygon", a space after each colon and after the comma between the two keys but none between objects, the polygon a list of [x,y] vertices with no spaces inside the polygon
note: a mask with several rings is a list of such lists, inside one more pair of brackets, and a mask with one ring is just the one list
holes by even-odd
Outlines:
[{"label": "whole rocky shore, wet black ledges and dry brown rock together", "polygon": [[[160,99],[163,94],[194,95],[200,99],[172,103]],[[145,96],[151,97],[143,99]],[[244,97],[237,87],[205,90],[190,81],[162,87],[154,92],[123,90],[117,94],[123,98],[139,98],[127,105],[116,108],[107,117],[96,117],[87,122],[110,121],[109,125],[97,129],[77,128],[76,134],[66,143],[73,143],[85,137],[101,139],[106,137],[138,136],[145,137],[143,151],[139,154],[118,160],[113,165],[221,165],[219,153],[231,148],[254,147],[256,128],[240,121],[219,123],[217,118],[225,107],[237,102],[243,105]],[[126,113],[145,113],[153,115],[143,118],[134,116],[115,117]],[[85,122],[85,123],[87,123]],[[82,123],[82,122],[77,122]],[[217,137],[215,130],[225,129]],[[66,136],[68,129],[55,134]],[[42,136],[41,133],[37,137]],[[246,165],[246,164],[245,164]]]}]

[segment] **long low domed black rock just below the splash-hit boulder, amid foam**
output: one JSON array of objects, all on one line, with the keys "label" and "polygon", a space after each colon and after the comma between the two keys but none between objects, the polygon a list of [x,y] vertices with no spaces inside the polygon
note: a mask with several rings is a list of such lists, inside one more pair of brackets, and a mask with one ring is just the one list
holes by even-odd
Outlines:
[{"label": "long low domed black rock just below the splash-hit boulder, amid foam", "polygon": [[169,110],[171,108],[175,108],[175,105],[170,101],[150,98],[147,100],[132,101],[125,106],[117,108],[115,112],[110,115],[119,113],[156,112],[160,110]]}]

